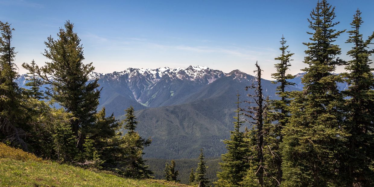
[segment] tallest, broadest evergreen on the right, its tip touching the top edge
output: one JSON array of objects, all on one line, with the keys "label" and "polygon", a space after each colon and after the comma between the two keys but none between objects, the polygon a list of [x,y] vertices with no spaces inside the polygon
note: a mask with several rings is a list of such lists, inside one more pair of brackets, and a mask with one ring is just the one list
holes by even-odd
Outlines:
[{"label": "tallest, broadest evergreen on the right, its tip touching the top edge", "polygon": [[319,1],[310,13],[309,28],[313,32],[304,63],[304,89],[293,92],[291,117],[283,129],[282,171],[284,186],[341,186],[338,175],[339,156],[346,140],[341,106],[343,96],[336,82],[341,78],[332,74],[343,61],[335,58],[340,48],[335,39],[344,31],[333,27],[334,7],[326,0]]}]

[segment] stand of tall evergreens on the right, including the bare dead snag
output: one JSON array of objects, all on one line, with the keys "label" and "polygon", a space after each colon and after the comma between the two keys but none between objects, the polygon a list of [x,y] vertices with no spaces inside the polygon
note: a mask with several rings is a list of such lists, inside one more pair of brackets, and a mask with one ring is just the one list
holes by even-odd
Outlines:
[{"label": "stand of tall evergreens on the right, including the bare dead snag", "polygon": [[[257,79],[245,88],[255,90],[245,101],[255,106],[239,109],[238,99],[235,131],[225,141],[228,152],[222,156],[217,186],[374,186],[374,68],[369,58],[374,32],[364,40],[357,10],[353,30],[347,31],[352,59],[337,58],[341,49],[334,42],[346,30],[334,29],[339,24],[334,10],[322,0],[310,13],[303,91],[285,91],[294,85],[288,81],[294,76],[286,74],[293,53],[284,37],[272,74],[279,99],[263,98],[262,70],[255,64]],[[346,65],[347,73],[334,74],[340,65]],[[342,82],[349,85],[345,91],[338,89]],[[242,120],[252,128],[239,132]]]}]

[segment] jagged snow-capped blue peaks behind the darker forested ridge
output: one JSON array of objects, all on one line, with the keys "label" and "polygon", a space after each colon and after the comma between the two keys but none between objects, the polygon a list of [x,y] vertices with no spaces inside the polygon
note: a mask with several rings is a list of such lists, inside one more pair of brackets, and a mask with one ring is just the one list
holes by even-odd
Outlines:
[{"label": "jagged snow-capped blue peaks behind the darker forested ridge", "polygon": [[101,100],[135,100],[137,103],[131,104],[138,108],[167,105],[225,75],[220,70],[191,65],[187,68],[127,68],[100,75],[99,84],[104,88]]}]

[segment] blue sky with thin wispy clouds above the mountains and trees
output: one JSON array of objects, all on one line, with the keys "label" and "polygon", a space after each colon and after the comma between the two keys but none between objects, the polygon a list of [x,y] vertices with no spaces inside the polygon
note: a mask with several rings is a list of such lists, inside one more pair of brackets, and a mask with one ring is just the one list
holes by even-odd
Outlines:
[{"label": "blue sky with thin wispy clouds above the mountains and trees", "polygon": [[[307,18],[316,0],[0,0],[0,20],[12,24],[13,46],[18,52],[19,73],[23,62],[41,54],[49,35],[56,37],[65,20],[74,23],[82,39],[85,62],[96,72],[111,73],[128,67],[187,67],[203,65],[226,73],[240,69],[253,74],[258,61],[264,78],[274,72],[282,34],[293,56],[290,73],[300,73],[309,35]],[[337,30],[350,29],[355,10],[365,21],[362,34],[374,31],[374,1],[329,0],[335,6]],[[348,35],[338,40],[341,58],[350,45]],[[373,58],[372,58],[373,59]],[[337,72],[343,71],[339,67]]]}]

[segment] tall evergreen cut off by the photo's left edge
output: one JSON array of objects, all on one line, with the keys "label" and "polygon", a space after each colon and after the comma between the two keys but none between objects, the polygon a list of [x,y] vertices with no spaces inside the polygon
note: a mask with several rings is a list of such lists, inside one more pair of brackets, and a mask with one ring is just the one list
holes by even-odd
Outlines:
[{"label": "tall evergreen cut off by the photo's left edge", "polygon": [[30,126],[27,124],[27,113],[22,107],[24,96],[14,82],[18,73],[13,62],[16,52],[11,45],[12,31],[14,29],[8,22],[0,21],[0,137],[27,150],[25,139]]}]

